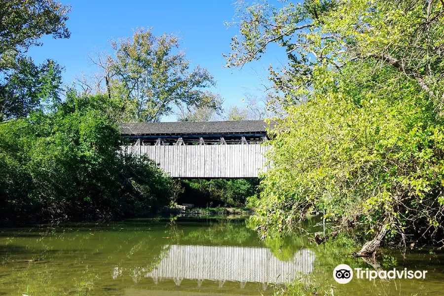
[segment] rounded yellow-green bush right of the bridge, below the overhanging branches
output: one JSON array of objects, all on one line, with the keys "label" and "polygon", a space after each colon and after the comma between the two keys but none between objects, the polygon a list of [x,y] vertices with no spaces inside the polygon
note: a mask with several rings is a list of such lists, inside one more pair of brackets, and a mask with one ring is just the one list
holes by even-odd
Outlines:
[{"label": "rounded yellow-green bush right of the bridge, below the overhanging branches", "polygon": [[[288,109],[271,141],[273,169],[262,184],[267,208],[284,212],[266,210],[265,219],[285,228],[317,210],[339,224],[358,219],[371,229],[389,216],[399,233],[419,227],[418,215],[431,219],[421,221],[424,227],[442,221],[442,121],[429,101],[418,95],[412,100],[410,84],[386,94],[379,77],[371,77],[378,89],[363,83],[356,89],[353,77],[366,79],[363,66],[333,86],[339,94]],[[351,87],[353,97],[346,95]],[[424,206],[435,208],[438,219]]]}]

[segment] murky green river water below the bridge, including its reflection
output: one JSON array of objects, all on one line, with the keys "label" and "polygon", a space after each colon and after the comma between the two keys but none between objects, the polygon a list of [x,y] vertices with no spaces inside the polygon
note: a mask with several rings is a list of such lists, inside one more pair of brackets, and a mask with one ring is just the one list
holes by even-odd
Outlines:
[{"label": "murky green river water below the bridge, including its reflection", "polygon": [[[310,227],[314,221],[307,221]],[[288,283],[334,295],[444,295],[444,252],[383,250],[378,268],[427,270],[425,279],[333,279],[333,268],[374,268],[338,239],[259,241],[242,217],[173,217],[0,227],[0,295],[273,295]]]}]

